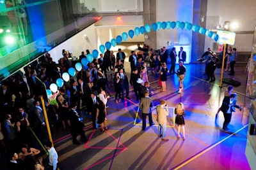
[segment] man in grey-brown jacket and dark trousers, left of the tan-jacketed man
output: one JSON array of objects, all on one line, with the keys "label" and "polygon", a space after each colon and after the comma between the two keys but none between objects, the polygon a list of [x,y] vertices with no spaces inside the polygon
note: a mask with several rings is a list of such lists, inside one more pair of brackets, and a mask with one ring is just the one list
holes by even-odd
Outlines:
[{"label": "man in grey-brown jacket and dark trousers, left of the tan-jacketed man", "polygon": [[148,115],[148,121],[149,121],[150,127],[154,125],[154,122],[152,120],[152,111],[151,111],[152,106],[153,106],[152,99],[150,99],[149,93],[146,92],[145,97],[143,97],[140,101],[140,109],[142,113],[142,131],[145,131],[145,128],[146,128],[147,115]]}]

